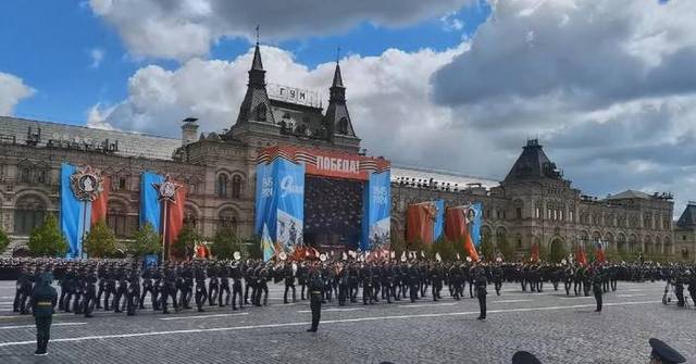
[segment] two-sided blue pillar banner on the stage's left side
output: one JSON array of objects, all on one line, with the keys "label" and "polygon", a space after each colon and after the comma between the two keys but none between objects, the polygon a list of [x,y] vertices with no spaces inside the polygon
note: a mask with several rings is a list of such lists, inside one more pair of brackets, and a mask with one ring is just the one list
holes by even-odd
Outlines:
[{"label": "two-sided blue pillar banner on the stage's left side", "polygon": [[262,238],[264,260],[278,249],[302,243],[304,165],[283,158],[257,164],[254,231]]}]

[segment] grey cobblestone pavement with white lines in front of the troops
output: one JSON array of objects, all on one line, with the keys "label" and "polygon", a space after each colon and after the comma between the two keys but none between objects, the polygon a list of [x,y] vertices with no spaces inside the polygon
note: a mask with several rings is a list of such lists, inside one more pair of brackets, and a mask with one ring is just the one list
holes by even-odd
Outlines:
[{"label": "grey cobblestone pavement with white lines in front of the troops", "polygon": [[0,281],[0,363],[510,363],[517,350],[544,363],[647,363],[650,337],[696,363],[696,310],[663,305],[663,287],[619,283],[596,313],[593,297],[506,284],[499,297],[489,289],[485,322],[470,298],[344,307],[334,301],[310,334],[309,303],[283,304],[282,287],[273,286],[268,307],[241,312],[57,314],[50,354],[34,356],[33,318],[11,312],[14,283]]}]

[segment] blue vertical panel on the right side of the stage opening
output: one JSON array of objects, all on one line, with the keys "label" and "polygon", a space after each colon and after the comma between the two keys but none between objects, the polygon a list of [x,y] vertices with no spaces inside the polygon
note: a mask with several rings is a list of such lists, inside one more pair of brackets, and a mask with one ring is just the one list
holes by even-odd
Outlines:
[{"label": "blue vertical panel on the right side of the stage opening", "polygon": [[360,249],[368,251],[390,242],[391,172],[371,173],[363,194],[362,239]]}]

